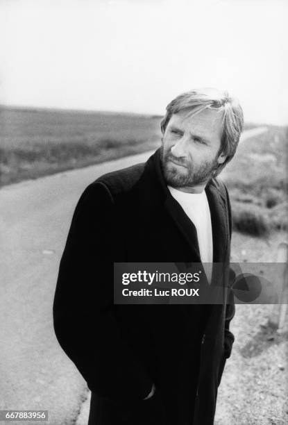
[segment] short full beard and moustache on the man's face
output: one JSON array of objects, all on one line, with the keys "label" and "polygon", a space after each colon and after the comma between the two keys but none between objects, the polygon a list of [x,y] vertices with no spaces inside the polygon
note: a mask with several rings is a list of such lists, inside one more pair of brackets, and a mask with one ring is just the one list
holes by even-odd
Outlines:
[{"label": "short full beard and moustache on the man's face", "polygon": [[[211,161],[205,161],[201,165],[195,165],[187,163],[181,158],[173,156],[171,151],[164,152],[163,145],[160,148],[160,160],[162,166],[162,172],[164,180],[167,185],[172,188],[183,188],[183,187],[194,187],[196,185],[203,185],[210,180],[213,176],[214,171],[218,168],[219,163],[217,162],[217,156]],[[170,160],[176,161],[176,163],[183,165],[174,165]]]}]

